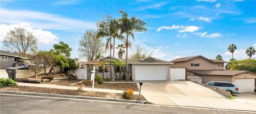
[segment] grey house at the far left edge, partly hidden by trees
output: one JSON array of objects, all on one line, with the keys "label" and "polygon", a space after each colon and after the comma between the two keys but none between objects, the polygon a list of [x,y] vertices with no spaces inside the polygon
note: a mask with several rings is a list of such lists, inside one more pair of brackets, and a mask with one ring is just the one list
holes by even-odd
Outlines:
[{"label": "grey house at the far left edge, partly hidden by trees", "polygon": [[8,67],[12,67],[13,63],[15,61],[17,61],[20,58],[22,58],[20,56],[20,54],[17,53],[17,52],[10,52],[10,51],[3,51],[3,50],[0,50],[0,56],[1,56],[1,66],[0,66],[0,69],[6,69]]}]

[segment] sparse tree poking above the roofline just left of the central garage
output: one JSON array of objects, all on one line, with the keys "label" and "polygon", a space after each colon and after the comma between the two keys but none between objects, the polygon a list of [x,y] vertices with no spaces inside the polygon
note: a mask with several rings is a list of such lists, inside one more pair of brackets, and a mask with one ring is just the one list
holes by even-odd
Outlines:
[{"label": "sparse tree poking above the roofline just left of the central garage", "polygon": [[139,45],[136,46],[136,50],[135,52],[132,52],[132,54],[130,55],[131,59],[142,59],[148,56],[153,55],[153,52],[148,52],[148,50],[146,48],[140,47]]}]

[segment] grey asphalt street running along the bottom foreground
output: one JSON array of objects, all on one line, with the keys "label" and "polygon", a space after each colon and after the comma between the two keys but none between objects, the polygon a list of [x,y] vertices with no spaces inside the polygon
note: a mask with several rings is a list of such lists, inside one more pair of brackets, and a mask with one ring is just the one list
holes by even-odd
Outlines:
[{"label": "grey asphalt street running along the bottom foreground", "polygon": [[232,110],[183,108],[65,98],[0,94],[0,113],[245,113]]}]

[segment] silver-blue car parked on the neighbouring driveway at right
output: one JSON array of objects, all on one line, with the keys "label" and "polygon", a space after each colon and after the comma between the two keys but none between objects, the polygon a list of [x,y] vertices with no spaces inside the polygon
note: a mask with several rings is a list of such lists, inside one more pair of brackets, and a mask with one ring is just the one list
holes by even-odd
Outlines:
[{"label": "silver-blue car parked on the neighbouring driveway at right", "polygon": [[219,82],[219,81],[212,81],[206,83],[206,85],[218,87],[220,90],[230,91],[231,94],[239,94],[238,86],[233,82]]}]

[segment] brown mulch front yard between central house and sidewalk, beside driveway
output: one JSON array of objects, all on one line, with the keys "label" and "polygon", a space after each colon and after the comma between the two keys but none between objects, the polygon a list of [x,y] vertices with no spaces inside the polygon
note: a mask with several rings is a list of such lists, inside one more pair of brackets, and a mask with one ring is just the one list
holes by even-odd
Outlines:
[{"label": "brown mulch front yard between central house and sidewalk, beside driveway", "polygon": [[[92,87],[92,85],[85,85],[85,87]],[[139,91],[136,83],[102,83],[102,84],[94,85],[94,87],[99,89],[111,89],[111,90],[123,90],[123,91],[132,89],[133,91]]]}]

